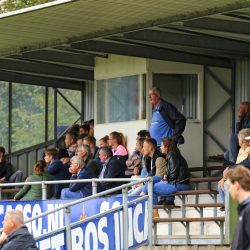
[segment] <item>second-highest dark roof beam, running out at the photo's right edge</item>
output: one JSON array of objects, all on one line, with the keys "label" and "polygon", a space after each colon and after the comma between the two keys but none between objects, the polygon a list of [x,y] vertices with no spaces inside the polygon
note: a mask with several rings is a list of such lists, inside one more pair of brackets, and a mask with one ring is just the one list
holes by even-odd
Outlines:
[{"label": "second-highest dark roof beam, running out at the photo's right edge", "polygon": [[155,30],[143,30],[124,34],[124,38],[147,42],[174,44],[195,48],[250,54],[250,43],[202,35],[190,35],[168,31],[161,32]]}]

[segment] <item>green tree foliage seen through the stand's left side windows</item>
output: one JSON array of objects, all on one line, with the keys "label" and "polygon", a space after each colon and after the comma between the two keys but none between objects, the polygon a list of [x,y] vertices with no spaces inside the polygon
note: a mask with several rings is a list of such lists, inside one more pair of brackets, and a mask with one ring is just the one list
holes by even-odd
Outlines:
[{"label": "green tree foliage seen through the stand's left side windows", "polygon": [[[80,91],[60,89],[80,109]],[[48,137],[54,138],[54,90],[49,88]],[[9,83],[0,81],[0,145],[8,149],[11,121],[11,151],[45,141],[45,87],[12,83],[12,110],[9,119]],[[79,115],[57,94],[57,126],[70,126]]]}]

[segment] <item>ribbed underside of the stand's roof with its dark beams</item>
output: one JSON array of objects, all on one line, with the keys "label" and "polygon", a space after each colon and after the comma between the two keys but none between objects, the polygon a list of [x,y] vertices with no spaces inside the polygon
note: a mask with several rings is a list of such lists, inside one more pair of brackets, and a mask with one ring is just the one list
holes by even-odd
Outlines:
[{"label": "ribbed underside of the stand's roof with its dark beams", "polygon": [[108,54],[225,68],[250,55],[249,1],[60,0],[0,27],[0,80],[54,87],[79,89]]}]

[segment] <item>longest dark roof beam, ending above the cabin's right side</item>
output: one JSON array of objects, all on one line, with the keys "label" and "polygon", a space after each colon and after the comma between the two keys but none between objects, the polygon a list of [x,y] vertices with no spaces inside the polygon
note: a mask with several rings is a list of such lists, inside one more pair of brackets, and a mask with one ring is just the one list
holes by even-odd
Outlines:
[{"label": "longest dark roof beam, ending above the cabin's right side", "polygon": [[87,41],[80,43],[72,43],[73,49],[81,49],[87,51],[103,52],[109,54],[117,54],[124,56],[134,56],[142,58],[150,58],[164,61],[174,61],[183,63],[192,63],[199,65],[215,66],[222,68],[230,68],[231,62],[226,59],[206,57],[192,53],[184,53],[176,50],[152,48],[147,46],[134,46],[122,43]]}]

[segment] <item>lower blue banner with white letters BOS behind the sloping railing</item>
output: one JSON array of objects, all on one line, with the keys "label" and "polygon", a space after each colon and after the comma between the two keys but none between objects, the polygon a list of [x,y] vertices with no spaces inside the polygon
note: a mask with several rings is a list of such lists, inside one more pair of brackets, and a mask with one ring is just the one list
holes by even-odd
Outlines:
[{"label": "lower blue banner with white letters BOS behind the sloping railing", "polygon": [[[114,199],[113,199],[114,200]],[[116,201],[114,201],[116,202]],[[120,201],[119,201],[120,202]],[[112,203],[112,202],[111,202]],[[115,204],[115,203],[113,203]],[[134,248],[148,239],[147,200],[132,204],[128,208],[128,245]],[[123,249],[122,210],[88,220],[71,228],[73,250],[121,250]],[[65,231],[36,241],[40,250],[66,250]]]}]

